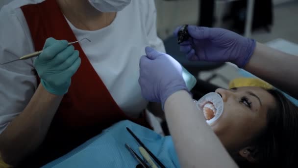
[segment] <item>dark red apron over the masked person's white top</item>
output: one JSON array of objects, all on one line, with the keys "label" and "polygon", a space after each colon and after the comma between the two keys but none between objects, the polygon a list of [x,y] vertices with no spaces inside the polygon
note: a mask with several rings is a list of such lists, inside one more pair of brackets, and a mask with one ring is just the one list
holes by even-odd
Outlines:
[{"label": "dark red apron over the masked person's white top", "polygon": [[[77,40],[56,0],[25,5],[21,9],[36,51],[43,49],[48,37],[65,39],[69,42]],[[102,129],[120,120],[129,119],[149,126],[144,117],[133,119],[124,114],[79,44],[76,43],[74,46],[80,52],[81,65],[73,76],[69,91],[51,122],[46,139],[39,149],[25,160],[22,167],[42,166],[66,154],[86,140],[98,135]]]}]

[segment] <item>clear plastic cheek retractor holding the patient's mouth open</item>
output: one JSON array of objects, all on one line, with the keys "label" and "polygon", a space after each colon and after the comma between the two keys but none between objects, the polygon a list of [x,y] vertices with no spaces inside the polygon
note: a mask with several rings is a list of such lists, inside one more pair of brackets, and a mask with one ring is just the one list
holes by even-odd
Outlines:
[{"label": "clear plastic cheek retractor holding the patient's mouth open", "polygon": [[215,92],[204,95],[196,103],[197,108],[204,112],[206,122],[210,125],[217,121],[224,112],[224,101],[222,97]]}]

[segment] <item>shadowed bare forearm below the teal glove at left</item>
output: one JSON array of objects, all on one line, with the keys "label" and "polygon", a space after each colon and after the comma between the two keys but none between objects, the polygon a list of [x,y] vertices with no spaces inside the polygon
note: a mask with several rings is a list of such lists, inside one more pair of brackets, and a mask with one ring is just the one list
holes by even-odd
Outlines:
[{"label": "shadowed bare forearm below the teal glove at left", "polygon": [[0,135],[0,154],[6,164],[17,166],[44,140],[63,96],[39,84],[24,111]]}]

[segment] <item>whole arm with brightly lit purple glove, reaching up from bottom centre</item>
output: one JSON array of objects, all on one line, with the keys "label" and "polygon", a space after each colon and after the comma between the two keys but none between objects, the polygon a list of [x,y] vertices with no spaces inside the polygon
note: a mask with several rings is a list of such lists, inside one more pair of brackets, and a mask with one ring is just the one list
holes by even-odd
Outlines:
[{"label": "whole arm with brightly lit purple glove, reaching up from bottom centre", "polygon": [[146,48],[140,59],[142,95],[161,102],[181,167],[237,167],[193,102],[181,65],[169,55]]}]

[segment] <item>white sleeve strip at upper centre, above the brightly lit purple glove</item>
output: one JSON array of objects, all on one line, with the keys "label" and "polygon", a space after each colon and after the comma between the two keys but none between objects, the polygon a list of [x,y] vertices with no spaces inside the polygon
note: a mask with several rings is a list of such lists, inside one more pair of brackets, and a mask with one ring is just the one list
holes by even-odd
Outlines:
[{"label": "white sleeve strip at upper centre, above the brightly lit purple glove", "polygon": [[165,46],[163,41],[157,36],[156,28],[156,7],[154,0],[148,0],[148,15],[146,17],[146,29],[149,39],[150,47],[155,50],[165,53]]}]

